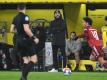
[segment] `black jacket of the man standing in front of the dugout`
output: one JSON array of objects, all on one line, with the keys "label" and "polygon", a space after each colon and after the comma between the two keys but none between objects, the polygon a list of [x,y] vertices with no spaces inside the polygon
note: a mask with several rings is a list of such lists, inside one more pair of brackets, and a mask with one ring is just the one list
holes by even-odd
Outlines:
[{"label": "black jacket of the man standing in front of the dugout", "polygon": [[65,45],[66,25],[63,19],[51,21],[51,32],[53,35],[53,45]]}]

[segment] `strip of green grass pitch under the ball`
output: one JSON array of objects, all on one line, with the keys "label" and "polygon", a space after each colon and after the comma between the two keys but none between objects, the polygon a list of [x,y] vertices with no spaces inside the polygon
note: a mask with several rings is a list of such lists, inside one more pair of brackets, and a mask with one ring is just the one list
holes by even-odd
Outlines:
[{"label": "strip of green grass pitch under the ball", "polygon": [[[20,72],[0,72],[0,80],[19,80]],[[107,80],[107,72],[73,72],[64,76],[62,72],[31,72],[28,80]]]}]

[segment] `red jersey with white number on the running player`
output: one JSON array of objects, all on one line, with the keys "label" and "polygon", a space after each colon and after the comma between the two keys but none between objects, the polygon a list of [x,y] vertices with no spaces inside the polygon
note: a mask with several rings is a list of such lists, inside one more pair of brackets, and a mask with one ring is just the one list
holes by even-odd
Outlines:
[{"label": "red jersey with white number on the running player", "polygon": [[90,46],[102,46],[102,41],[100,40],[96,29],[87,27],[84,29],[84,35]]}]

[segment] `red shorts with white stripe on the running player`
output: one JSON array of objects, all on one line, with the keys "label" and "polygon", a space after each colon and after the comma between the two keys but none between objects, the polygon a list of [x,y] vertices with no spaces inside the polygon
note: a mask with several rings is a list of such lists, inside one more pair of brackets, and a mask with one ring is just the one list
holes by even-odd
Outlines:
[{"label": "red shorts with white stripe on the running player", "polygon": [[99,57],[103,57],[103,49],[102,46],[92,46],[92,55],[98,59]]}]

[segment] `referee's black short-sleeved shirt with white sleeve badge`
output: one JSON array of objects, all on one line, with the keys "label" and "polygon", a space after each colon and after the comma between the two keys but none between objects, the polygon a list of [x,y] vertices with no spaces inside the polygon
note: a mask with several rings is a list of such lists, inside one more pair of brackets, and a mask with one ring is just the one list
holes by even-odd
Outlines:
[{"label": "referee's black short-sleeved shirt with white sleeve badge", "polygon": [[24,26],[23,26],[23,24],[29,24],[29,17],[27,15],[25,15],[22,12],[19,12],[14,17],[12,24],[14,24],[14,26],[17,30],[17,34],[19,36],[21,36],[21,35],[28,36],[26,34],[26,32],[24,31]]}]

